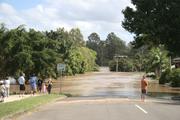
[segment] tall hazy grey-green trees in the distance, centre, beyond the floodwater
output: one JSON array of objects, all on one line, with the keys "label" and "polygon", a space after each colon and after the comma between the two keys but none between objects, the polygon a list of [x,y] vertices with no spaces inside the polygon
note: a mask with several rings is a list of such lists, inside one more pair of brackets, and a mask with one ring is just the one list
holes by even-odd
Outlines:
[{"label": "tall hazy grey-green trees in the distance, centre, beyond the floodwater", "polygon": [[108,66],[116,55],[127,55],[129,48],[115,33],[109,33],[106,40],[101,40],[97,33],[88,36],[86,46],[97,53],[96,63],[99,66]]}]

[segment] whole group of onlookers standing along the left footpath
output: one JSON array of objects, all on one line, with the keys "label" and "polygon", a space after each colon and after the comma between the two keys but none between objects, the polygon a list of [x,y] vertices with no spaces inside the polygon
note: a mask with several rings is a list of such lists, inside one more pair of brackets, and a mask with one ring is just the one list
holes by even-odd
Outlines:
[{"label": "whole group of onlookers standing along the left footpath", "polygon": [[[26,90],[26,83],[25,74],[21,73],[20,77],[18,78],[19,84],[19,97],[23,97],[25,90]],[[36,77],[35,74],[32,74],[28,80],[30,85],[31,94],[35,95],[38,91],[39,93],[51,93],[52,88],[52,80],[49,79],[47,82],[43,81]],[[0,81],[0,102],[3,102],[5,97],[9,97],[10,91],[10,79],[6,78],[5,80]]]}]

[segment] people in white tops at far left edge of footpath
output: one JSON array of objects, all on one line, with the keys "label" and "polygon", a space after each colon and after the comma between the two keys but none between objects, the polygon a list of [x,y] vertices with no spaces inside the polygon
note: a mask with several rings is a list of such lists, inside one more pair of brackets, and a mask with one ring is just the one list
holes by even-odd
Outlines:
[{"label": "people in white tops at far left edge of footpath", "polygon": [[9,89],[10,89],[10,80],[6,78],[6,80],[0,81],[0,102],[4,101],[5,97],[9,97]]}]

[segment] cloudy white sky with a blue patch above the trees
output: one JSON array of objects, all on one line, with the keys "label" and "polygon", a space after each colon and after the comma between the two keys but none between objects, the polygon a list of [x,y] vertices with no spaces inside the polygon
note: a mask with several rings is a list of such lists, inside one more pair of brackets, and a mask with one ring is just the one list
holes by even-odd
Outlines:
[{"label": "cloudy white sky with a blue patch above the trees", "polygon": [[103,40],[114,32],[128,43],[133,36],[121,26],[126,6],[132,6],[130,0],[0,0],[0,22],[41,31],[78,27],[85,40],[92,32]]}]

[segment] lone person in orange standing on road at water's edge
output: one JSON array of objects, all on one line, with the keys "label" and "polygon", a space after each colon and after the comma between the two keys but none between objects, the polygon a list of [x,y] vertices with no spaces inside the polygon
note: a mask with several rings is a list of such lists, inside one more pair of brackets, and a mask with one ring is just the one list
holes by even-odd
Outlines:
[{"label": "lone person in orange standing on road at water's edge", "polygon": [[147,86],[148,82],[146,80],[146,76],[143,75],[143,78],[141,79],[141,100],[144,102],[145,95],[147,94]]}]

